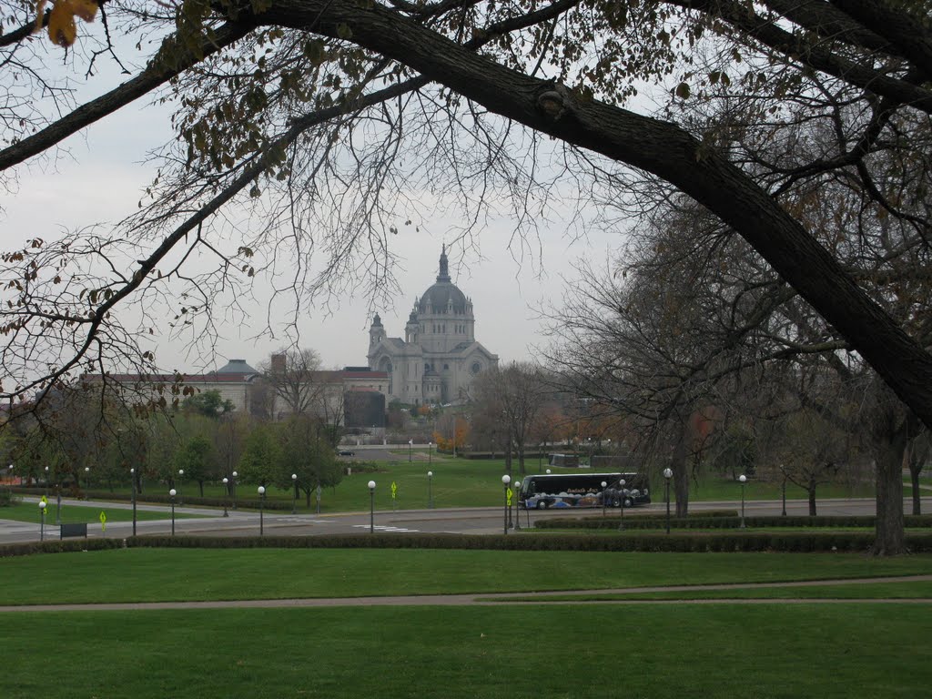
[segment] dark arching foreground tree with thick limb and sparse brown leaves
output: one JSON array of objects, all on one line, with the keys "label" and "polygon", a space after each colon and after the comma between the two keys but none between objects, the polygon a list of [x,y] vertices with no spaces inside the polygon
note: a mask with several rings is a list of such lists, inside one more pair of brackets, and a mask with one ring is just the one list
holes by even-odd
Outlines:
[{"label": "dark arching foreground tree with thick limb and sparse brown leaves", "polygon": [[[178,308],[183,325],[192,318],[209,319],[215,302],[211,292],[224,284],[229,288],[230,270],[254,274],[255,251],[279,244],[281,238],[273,234],[280,223],[290,226],[290,240],[298,245],[295,259],[303,259],[307,231],[323,202],[332,205],[323,221],[334,254],[316,280],[301,273],[299,281],[308,281],[304,288],[320,290],[326,286],[323,279],[356,281],[356,275],[340,272],[355,271],[351,260],[359,247],[372,252],[370,288],[388,288],[381,282],[391,254],[380,231],[391,231],[396,205],[412,203],[400,184],[407,173],[392,168],[400,162],[399,153],[415,152],[414,144],[404,141],[401,124],[418,115],[415,123],[424,130],[408,132],[432,134],[423,142],[423,152],[430,156],[428,167],[421,169],[426,177],[454,163],[450,175],[438,180],[439,188],[449,186],[461,195],[473,186],[511,189],[516,200],[526,202],[519,211],[529,212],[528,200],[550,188],[539,185],[519,159],[509,158],[508,146],[514,143],[509,127],[475,107],[483,105],[583,149],[568,151],[572,168],[564,176],[617,187],[622,172],[612,163],[625,163],[665,178],[706,204],[838,328],[918,415],[932,422],[932,389],[926,388],[932,385],[932,359],[921,341],[873,304],[826,246],[808,234],[802,217],[781,201],[781,185],[788,180],[851,172],[884,212],[924,226],[925,213],[901,206],[911,199],[891,195],[884,180],[893,170],[874,158],[893,151],[924,167],[918,155],[922,149],[915,146],[917,139],[926,138],[923,117],[932,111],[932,101],[925,87],[929,30],[918,9],[857,2],[798,7],[776,0],[766,3],[765,10],[749,11],[727,2],[590,7],[576,0],[543,7],[453,7],[442,2],[357,7],[344,0],[271,2],[261,9],[233,3],[199,12],[182,6],[152,12],[131,3],[112,7],[111,29],[119,20],[124,28],[171,27],[171,33],[146,69],[120,88],[61,119],[49,119],[47,128],[28,137],[10,138],[0,153],[0,167],[45,152],[169,80],[184,96],[176,119],[182,147],[166,154],[166,184],[154,190],[158,204],[144,207],[141,218],[132,222],[143,225],[135,228],[138,235],[124,250],[109,238],[84,247],[72,240],[48,255],[44,245],[38,252],[29,245],[6,258],[4,277],[19,282],[10,287],[16,290],[17,311],[7,319],[5,359],[16,367],[16,375],[12,388],[5,389],[8,395],[64,377],[86,359],[116,359],[118,352],[106,350],[110,343],[125,340],[134,347],[133,333],[121,331],[111,310],[132,295],[151,299],[163,294],[168,302],[180,298],[166,281],[189,278],[167,255],[185,240],[188,252],[197,248],[214,254],[221,272],[213,286],[210,280],[197,283],[187,298],[198,300]],[[32,24],[32,18],[22,20],[23,27]],[[709,31],[713,27],[716,31]],[[11,32],[4,47],[21,48],[22,35]],[[631,46],[643,50],[632,54]],[[705,67],[695,60],[703,49],[731,58],[721,60],[715,70],[694,71],[689,66]],[[30,62],[28,67],[37,65]],[[675,112],[651,119],[620,106],[637,89],[637,80],[653,79],[667,87],[671,73],[679,80],[670,86],[675,99],[749,94],[757,99],[755,108],[761,106],[761,118],[756,123],[723,121],[722,130],[692,133],[692,123]],[[428,89],[432,80],[445,87]],[[459,97],[451,98],[445,90]],[[777,113],[834,123],[843,138],[829,152],[789,165],[743,158],[733,150],[730,144],[742,144],[745,135],[781,138],[777,128],[772,133],[761,128],[765,117],[771,124],[785,123],[772,118]],[[445,119],[439,130],[437,117]],[[475,134],[474,143],[483,146],[478,157],[468,157],[469,149],[445,138],[463,123]],[[340,140],[362,124],[372,126],[378,140],[370,145]],[[903,130],[910,134],[906,139],[898,138]],[[434,135],[440,138],[434,140]],[[541,141],[530,141],[536,151]],[[440,143],[453,144],[454,151],[441,149]],[[343,186],[350,181],[346,177],[329,177],[333,185],[319,188],[318,173],[343,174],[337,149],[355,163],[362,197],[358,187]],[[607,159],[596,161],[586,152]],[[473,167],[479,163],[486,165]],[[906,189],[921,191],[925,179],[924,174],[912,180]],[[225,250],[219,244],[222,221],[213,214],[240,192],[246,199],[259,199],[263,188],[280,192],[282,203],[299,201],[298,191],[312,196],[307,208],[276,209],[281,218],[267,217],[261,236]],[[146,251],[147,240],[158,244]],[[373,244],[364,246],[365,240]],[[292,250],[281,249],[281,254]],[[84,274],[94,260],[100,267]],[[132,265],[129,260],[140,262]],[[72,271],[78,267],[80,275]],[[39,269],[43,271],[32,273]],[[53,275],[56,269],[64,274]],[[124,269],[129,271],[117,271]],[[36,353],[16,348],[28,344],[30,329],[39,323],[44,330],[34,336],[42,336],[61,359],[50,372],[26,379],[26,366]]]}]

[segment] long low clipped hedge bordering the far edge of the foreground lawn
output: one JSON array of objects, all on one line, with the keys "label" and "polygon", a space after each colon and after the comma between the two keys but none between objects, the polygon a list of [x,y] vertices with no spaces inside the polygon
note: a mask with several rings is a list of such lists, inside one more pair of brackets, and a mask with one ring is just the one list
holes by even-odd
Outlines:
[{"label": "long low clipped hedge bordering the far edge of the foreground lawn", "polygon": [[[643,551],[643,552],[867,552],[870,533],[860,532],[728,532],[715,534],[664,533],[637,536],[587,537],[574,534],[471,535],[471,534],[332,534],[312,537],[165,537],[144,536],[127,540],[133,547],[175,548],[416,548],[492,551]],[[906,537],[913,553],[932,552],[932,534]]]}]

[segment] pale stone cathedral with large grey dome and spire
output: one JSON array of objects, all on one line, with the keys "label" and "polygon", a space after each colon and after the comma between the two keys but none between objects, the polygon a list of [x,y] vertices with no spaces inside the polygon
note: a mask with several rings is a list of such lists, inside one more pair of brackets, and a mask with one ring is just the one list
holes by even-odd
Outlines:
[{"label": "pale stone cathedral with large grey dome and spire", "polygon": [[369,328],[369,368],[388,374],[389,401],[464,403],[473,379],[499,364],[474,331],[473,302],[450,281],[444,246],[437,281],[415,299],[404,340],[387,336],[376,314]]}]

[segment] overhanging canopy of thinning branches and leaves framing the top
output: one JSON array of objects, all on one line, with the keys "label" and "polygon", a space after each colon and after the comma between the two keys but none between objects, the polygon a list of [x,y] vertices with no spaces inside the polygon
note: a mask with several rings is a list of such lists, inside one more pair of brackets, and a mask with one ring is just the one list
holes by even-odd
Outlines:
[{"label": "overhanging canopy of thinning branches and leaves framing the top", "polygon": [[[619,208],[645,203],[637,184],[659,178],[747,240],[932,425],[925,316],[878,303],[902,288],[902,255],[927,248],[927,3],[105,7],[108,32],[87,38],[76,61],[103,60],[115,32],[164,35],[159,48],[126,83],[71,111],[54,91],[58,110],[8,100],[0,168],[153,90],[176,105],[178,138],[124,226],[35,237],[0,258],[5,397],[125,357],[139,328],[113,311],[128,301],[168,298],[175,322],[209,327],[213,291],[285,260],[295,306],[361,280],[391,293],[391,235],[395,222],[417,220],[422,192],[456,202],[467,234],[507,201],[528,235],[560,185],[593,191],[611,226]],[[31,12],[7,8],[10,95],[50,84],[47,53],[27,38]],[[668,96],[658,111],[635,99],[645,90]],[[828,182],[858,195],[845,240],[890,243],[875,269],[888,283],[866,289],[816,235]],[[223,212],[233,203],[261,209],[261,223],[231,231]],[[194,249],[216,266],[189,271]],[[328,264],[311,276],[304,263],[321,251]]]}]

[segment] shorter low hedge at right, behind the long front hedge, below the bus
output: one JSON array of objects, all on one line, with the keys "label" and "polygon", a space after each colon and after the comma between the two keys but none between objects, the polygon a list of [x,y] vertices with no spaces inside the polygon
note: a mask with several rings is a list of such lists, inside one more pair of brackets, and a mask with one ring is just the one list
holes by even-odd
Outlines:
[{"label": "shorter low hedge at right, behind the long front hedge, below the bus", "polygon": [[[671,517],[670,528],[673,529],[736,529],[741,527],[741,517],[738,516],[698,516]],[[831,517],[809,516],[753,516],[745,517],[745,526],[751,528],[773,527],[844,527],[844,528],[873,528],[876,517],[873,515],[845,515]],[[553,518],[541,519],[534,523],[539,529],[617,529],[619,524],[617,514],[606,517],[583,517],[580,519]],[[909,528],[932,528],[932,514],[907,514],[903,523]],[[624,517],[626,529],[656,529],[665,527],[665,517],[652,515],[636,515]]]}]

